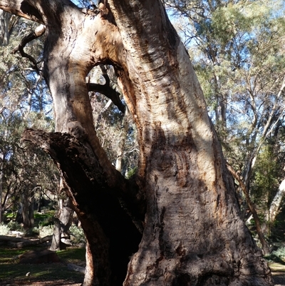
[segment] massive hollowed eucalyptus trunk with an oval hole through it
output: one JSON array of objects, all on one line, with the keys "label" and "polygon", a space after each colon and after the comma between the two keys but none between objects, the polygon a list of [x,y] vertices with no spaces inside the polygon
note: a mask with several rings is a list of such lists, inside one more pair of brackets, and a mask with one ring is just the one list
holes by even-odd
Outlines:
[{"label": "massive hollowed eucalyptus trunk with an oval hole through it", "polygon": [[[83,285],[122,285],[125,275],[124,286],[273,285],[161,1],[104,2],[86,11],[68,0],[0,0],[1,9],[46,26],[58,133],[29,130],[24,139],[50,153],[68,186],[88,241]],[[133,185],[108,161],[93,126],[85,78],[103,63],[113,64],[138,128]]]}]

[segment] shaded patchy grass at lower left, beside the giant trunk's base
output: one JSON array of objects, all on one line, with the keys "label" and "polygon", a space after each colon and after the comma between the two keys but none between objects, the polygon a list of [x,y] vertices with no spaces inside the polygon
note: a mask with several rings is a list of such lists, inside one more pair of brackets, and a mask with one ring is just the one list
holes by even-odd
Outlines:
[{"label": "shaded patchy grass at lower left, beside the giant trunk's base", "polygon": [[[84,275],[68,270],[67,264],[84,266],[85,249],[72,248],[58,252],[61,262],[50,264],[19,264],[14,259],[27,250],[0,247],[0,285],[80,285]],[[27,273],[29,272],[29,275]]]}]

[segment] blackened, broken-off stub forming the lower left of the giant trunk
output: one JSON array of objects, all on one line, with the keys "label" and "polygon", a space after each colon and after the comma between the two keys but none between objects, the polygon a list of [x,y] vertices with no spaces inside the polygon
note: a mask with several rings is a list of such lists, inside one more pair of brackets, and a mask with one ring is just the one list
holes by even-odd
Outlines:
[{"label": "blackened, broken-off stub forming the lower left of the giant trunk", "polygon": [[129,257],[141,239],[133,223],[140,223],[135,218],[138,211],[134,209],[137,213],[131,218],[124,209],[125,190],[120,190],[124,184],[110,188],[98,159],[68,134],[28,130],[24,139],[51,155],[68,185],[68,197],[88,242],[84,284],[122,285]]}]

